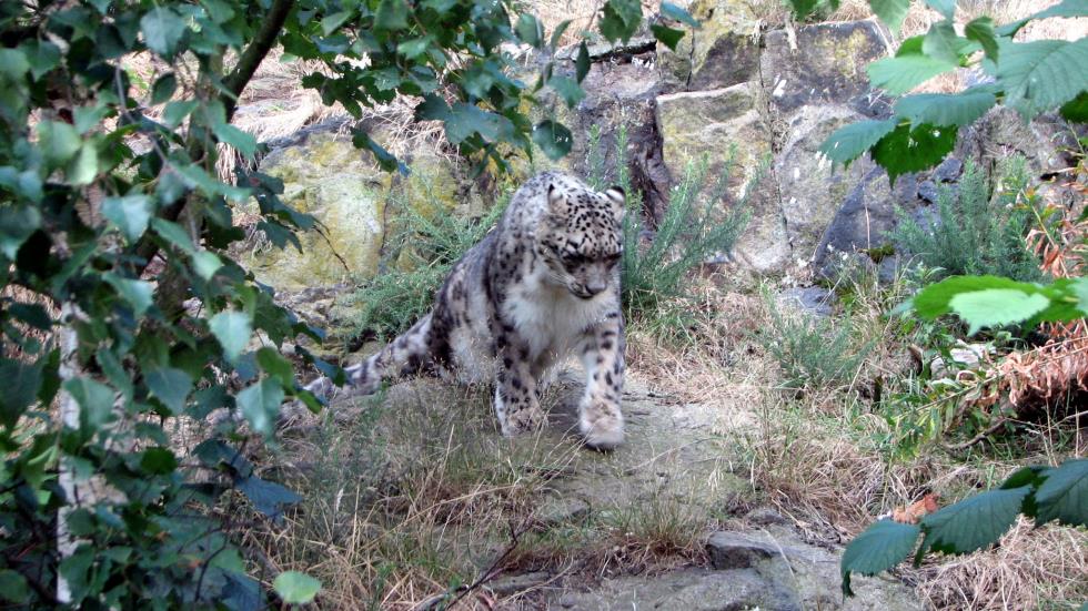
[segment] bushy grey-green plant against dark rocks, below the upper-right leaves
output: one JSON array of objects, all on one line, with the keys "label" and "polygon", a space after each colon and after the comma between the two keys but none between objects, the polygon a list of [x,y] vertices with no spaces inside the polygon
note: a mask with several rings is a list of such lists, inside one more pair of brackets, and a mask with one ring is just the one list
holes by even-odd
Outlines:
[{"label": "bushy grey-green plant against dark rocks, below the upper-right leaves", "polygon": [[935,272],[935,279],[963,274],[993,274],[1018,281],[1042,279],[1039,259],[1025,236],[1038,214],[1028,190],[1025,161],[1011,157],[993,195],[986,175],[968,161],[958,190],[941,186],[935,217],[914,218],[897,211],[890,237],[899,252]]}]

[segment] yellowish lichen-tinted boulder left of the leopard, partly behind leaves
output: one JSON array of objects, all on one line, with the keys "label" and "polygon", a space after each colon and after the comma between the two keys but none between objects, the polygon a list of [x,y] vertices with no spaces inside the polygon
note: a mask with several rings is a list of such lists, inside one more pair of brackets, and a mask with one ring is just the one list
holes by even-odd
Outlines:
[{"label": "yellowish lichen-tinted boulder left of the leopard, partly behind leaves", "polygon": [[283,181],[283,201],[314,215],[324,235],[299,234],[302,253],[292,246],[252,248],[242,261],[259,281],[291,291],[377,271],[390,176],[363,155],[347,136],[315,132],[261,162],[262,172]]}]

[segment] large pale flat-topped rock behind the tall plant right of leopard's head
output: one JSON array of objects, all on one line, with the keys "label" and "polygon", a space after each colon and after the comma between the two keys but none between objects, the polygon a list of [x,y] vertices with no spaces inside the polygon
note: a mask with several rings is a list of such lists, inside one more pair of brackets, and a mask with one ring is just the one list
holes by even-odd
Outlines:
[{"label": "large pale flat-topped rock behind the tall plant right of leopard's head", "polygon": [[[672,93],[657,98],[657,126],[665,164],[676,182],[689,164],[706,155],[708,176],[719,176],[731,157],[727,195],[744,195],[750,179],[772,151],[772,135],[757,110],[755,85]],[[734,156],[735,151],[735,156]],[[782,268],[790,248],[772,181],[765,179],[749,200],[752,221],[736,245],[736,255],[756,271]]]}]

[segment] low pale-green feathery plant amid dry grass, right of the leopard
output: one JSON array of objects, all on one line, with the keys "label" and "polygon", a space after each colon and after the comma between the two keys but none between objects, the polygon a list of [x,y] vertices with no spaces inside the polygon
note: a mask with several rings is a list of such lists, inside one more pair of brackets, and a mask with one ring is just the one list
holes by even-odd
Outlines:
[{"label": "low pale-green feathery plant amid dry grass, right of the leopard", "polygon": [[828,388],[853,381],[875,342],[858,343],[848,315],[836,323],[784,308],[769,294],[764,302],[770,320],[755,339],[778,363],[786,388]]}]

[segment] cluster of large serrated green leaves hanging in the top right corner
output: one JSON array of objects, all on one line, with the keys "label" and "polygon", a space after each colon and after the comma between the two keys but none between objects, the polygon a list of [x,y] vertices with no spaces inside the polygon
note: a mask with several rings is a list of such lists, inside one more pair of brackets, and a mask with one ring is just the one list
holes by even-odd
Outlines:
[{"label": "cluster of large serrated green leaves hanging in the top right corner", "polygon": [[[790,0],[798,17],[812,13],[816,0]],[[832,2],[837,3],[837,2]],[[848,165],[868,151],[894,183],[907,172],[933,167],[956,144],[960,128],[974,123],[996,104],[1016,109],[1030,120],[1058,109],[1070,121],[1084,120],[1088,98],[1088,38],[1075,41],[1014,42],[1027,23],[1049,17],[1086,17],[1082,0],[1065,0],[1020,21],[995,28],[989,17],[974,19],[957,33],[955,0],[926,0],[944,16],[924,35],[905,40],[894,58],[867,68],[874,89],[897,96],[895,114],[846,125],[820,145],[835,162]],[[893,30],[910,0],[869,0],[873,11]],[[994,82],[958,93],[904,95],[923,82],[960,67],[980,67]]]}]

